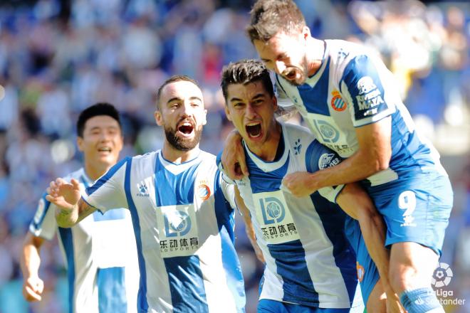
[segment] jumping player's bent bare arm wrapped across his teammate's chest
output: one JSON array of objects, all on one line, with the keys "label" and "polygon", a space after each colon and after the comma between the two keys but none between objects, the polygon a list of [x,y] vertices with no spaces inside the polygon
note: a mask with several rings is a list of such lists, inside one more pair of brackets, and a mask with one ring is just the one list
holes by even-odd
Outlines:
[{"label": "jumping player's bent bare arm wrapped across his teammate's chest", "polygon": [[283,184],[295,196],[307,196],[326,186],[349,184],[387,169],[392,157],[391,117],[356,128],[359,149],[340,164],[315,173],[293,173]]}]

